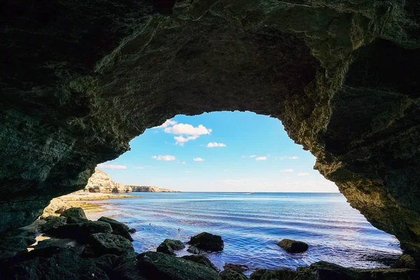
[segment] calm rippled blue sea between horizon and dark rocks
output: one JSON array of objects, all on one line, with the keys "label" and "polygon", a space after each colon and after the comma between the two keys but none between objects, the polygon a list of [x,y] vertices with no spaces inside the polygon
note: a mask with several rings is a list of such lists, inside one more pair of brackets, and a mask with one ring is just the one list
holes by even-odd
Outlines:
[{"label": "calm rippled blue sea between horizon and dark rocks", "polygon": [[[221,235],[222,253],[207,256],[256,268],[310,265],[319,260],[346,267],[384,267],[401,254],[392,235],[377,230],[336,193],[133,193],[141,198],[109,200],[106,211],[136,228],[137,252],[155,251],[165,238],[188,241],[206,231]],[[103,202],[94,202],[103,203]],[[281,239],[307,242],[301,254],[284,252]],[[179,255],[188,254],[185,250]]]}]

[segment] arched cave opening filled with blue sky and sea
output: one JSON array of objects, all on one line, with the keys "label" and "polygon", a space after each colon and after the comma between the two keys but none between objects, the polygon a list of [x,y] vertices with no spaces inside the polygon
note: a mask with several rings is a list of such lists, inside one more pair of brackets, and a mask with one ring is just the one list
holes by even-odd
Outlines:
[{"label": "arched cave opening filled with blue sky and sea", "polygon": [[[206,253],[209,260],[219,269],[246,265],[248,275],[321,260],[387,267],[400,257],[398,239],[350,207],[276,118],[239,111],[175,116],[134,138],[130,148],[97,169],[125,185],[118,193],[130,186],[130,195],[141,197],[92,202],[100,211],[86,212],[92,221],[109,216],[135,228],[137,253],[155,251],[165,239],[186,242],[211,232],[225,248]],[[100,192],[93,182],[88,186]],[[181,193],[139,193],[136,186]],[[281,239],[305,241],[309,250],[286,253],[276,245]],[[190,255],[186,250],[176,255]]]}]

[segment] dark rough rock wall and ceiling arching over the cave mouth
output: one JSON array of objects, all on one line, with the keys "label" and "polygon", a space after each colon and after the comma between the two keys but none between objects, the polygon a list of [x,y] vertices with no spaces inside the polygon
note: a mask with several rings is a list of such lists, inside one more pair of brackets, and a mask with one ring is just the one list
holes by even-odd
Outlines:
[{"label": "dark rough rock wall and ceiling arching over the cave mouth", "polygon": [[146,128],[240,110],[281,119],[352,207],[414,250],[419,13],[403,0],[6,3],[0,231],[84,188]]}]

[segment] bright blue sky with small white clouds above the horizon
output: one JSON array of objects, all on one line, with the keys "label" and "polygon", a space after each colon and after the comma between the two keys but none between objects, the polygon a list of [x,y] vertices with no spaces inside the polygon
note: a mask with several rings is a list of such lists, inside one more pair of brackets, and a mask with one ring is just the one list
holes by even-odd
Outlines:
[{"label": "bright blue sky with small white clouds above the horizon", "polygon": [[251,112],[179,115],[130,142],[131,151],[98,165],[125,185],[184,192],[337,193],[314,170],[281,121]]}]

